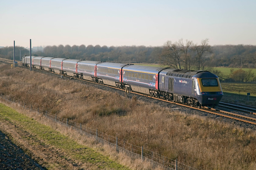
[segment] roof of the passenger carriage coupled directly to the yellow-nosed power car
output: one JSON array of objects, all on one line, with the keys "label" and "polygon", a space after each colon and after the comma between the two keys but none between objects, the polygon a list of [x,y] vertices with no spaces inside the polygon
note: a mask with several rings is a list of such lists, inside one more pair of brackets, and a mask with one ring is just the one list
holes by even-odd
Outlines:
[{"label": "roof of the passenger carriage coupled directly to the yellow-nosed power car", "polygon": [[160,71],[166,68],[163,67],[154,67],[154,66],[140,66],[140,65],[126,65],[123,70],[126,71],[136,71],[136,72],[145,72],[145,73],[159,73]]}]

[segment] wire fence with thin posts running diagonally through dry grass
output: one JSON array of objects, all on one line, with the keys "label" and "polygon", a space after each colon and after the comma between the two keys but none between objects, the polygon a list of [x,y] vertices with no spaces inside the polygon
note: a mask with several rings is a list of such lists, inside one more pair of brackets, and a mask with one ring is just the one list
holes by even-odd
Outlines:
[{"label": "wire fence with thin posts running diagonally through dry grass", "polygon": [[79,131],[80,133],[90,138],[94,138],[99,143],[108,144],[116,149],[117,152],[124,152],[132,159],[141,159],[141,161],[148,161],[150,162],[152,168],[162,167],[166,170],[196,170],[187,165],[184,165],[181,162],[178,162],[177,160],[173,160],[165,156],[159,155],[155,152],[149,151],[148,149],[143,148],[143,146],[140,147],[127,143],[124,140],[118,139],[118,137],[104,134],[103,132],[98,131],[98,129],[85,127],[83,124],[70,121],[67,118],[59,117],[56,114],[48,113],[47,110],[41,110],[38,107],[33,107],[30,104],[25,104],[22,101],[15,100],[3,94],[1,94],[1,98],[9,102],[16,103],[20,107],[30,110],[30,112],[33,111],[37,114],[43,115],[44,117],[51,119],[55,123],[59,123],[63,126],[70,127],[76,131]]}]

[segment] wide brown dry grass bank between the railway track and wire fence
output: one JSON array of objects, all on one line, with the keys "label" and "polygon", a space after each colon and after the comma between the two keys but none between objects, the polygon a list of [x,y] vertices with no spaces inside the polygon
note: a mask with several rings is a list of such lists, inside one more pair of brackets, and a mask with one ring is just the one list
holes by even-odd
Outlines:
[{"label": "wide brown dry grass bank between the railway track and wire fence", "polygon": [[172,111],[136,98],[129,100],[116,93],[23,68],[10,70],[0,64],[0,71],[0,93],[98,128],[190,167],[255,168],[254,130]]}]

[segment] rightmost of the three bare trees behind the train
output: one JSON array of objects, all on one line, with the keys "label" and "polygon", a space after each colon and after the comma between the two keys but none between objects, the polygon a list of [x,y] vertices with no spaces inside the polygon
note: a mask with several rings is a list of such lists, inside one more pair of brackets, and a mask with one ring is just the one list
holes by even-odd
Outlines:
[{"label": "rightmost of the three bare trees behind the train", "polygon": [[194,50],[196,52],[196,60],[197,60],[197,68],[198,70],[200,70],[201,67],[201,60],[202,60],[202,56],[205,52],[210,52],[211,51],[211,46],[209,45],[209,39],[203,39],[201,41],[200,45],[195,45],[194,46]]}]

